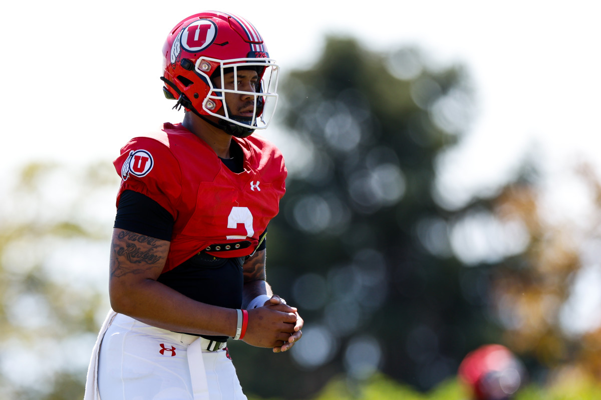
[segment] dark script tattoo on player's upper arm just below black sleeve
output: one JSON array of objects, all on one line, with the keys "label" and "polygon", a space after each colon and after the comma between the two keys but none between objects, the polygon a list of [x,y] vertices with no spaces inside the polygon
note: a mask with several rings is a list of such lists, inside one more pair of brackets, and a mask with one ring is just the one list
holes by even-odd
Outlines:
[{"label": "dark script tattoo on player's upper arm just below black sleeve", "polygon": [[144,273],[162,266],[168,243],[141,234],[119,231],[112,240],[111,276]]}]

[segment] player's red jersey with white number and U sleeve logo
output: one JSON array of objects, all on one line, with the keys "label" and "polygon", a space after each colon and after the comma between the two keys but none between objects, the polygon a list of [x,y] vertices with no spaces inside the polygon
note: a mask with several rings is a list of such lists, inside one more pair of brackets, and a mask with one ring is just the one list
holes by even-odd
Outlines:
[{"label": "player's red jersey with white number and U sleeve logo", "polygon": [[260,136],[232,140],[244,155],[242,173],[231,172],[182,124],[130,140],[114,161],[122,179],[117,204],[124,190],[133,190],[174,218],[163,272],[203,250],[217,257],[249,255],[277,215],[287,176],[281,152]]}]

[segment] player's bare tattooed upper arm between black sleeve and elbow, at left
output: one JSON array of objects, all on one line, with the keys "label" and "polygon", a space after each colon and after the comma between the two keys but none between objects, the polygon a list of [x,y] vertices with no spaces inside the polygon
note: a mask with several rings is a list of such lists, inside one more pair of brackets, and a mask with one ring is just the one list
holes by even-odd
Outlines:
[{"label": "player's bare tattooed upper arm between black sleeve and elbow, at left", "polygon": [[165,266],[169,244],[168,240],[115,228],[111,240],[111,287],[159,278]]}]

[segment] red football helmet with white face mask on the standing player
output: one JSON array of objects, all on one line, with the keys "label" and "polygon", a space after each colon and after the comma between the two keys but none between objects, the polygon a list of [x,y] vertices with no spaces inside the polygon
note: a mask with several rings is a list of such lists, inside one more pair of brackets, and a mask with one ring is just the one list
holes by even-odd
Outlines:
[{"label": "red football helmet with white face mask on the standing player", "polygon": [[[163,93],[177,106],[208,121],[228,134],[246,137],[264,129],[273,116],[278,95],[278,65],[269,58],[257,29],[234,14],[204,11],[175,25],[163,45]],[[227,68],[227,69],[226,69]],[[259,80],[254,92],[215,88],[216,77],[252,69]],[[252,95],[251,117],[234,116],[225,103],[225,93]],[[174,108],[175,108],[174,107]],[[221,113],[220,113],[221,111]],[[206,116],[220,118],[219,124]]]}]

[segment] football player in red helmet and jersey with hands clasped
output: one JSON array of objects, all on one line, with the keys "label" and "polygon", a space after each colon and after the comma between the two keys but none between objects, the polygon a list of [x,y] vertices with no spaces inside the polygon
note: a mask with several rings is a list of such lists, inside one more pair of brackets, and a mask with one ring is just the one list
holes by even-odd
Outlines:
[{"label": "football player in red helmet and jersey with hands clasped", "polygon": [[175,25],[162,55],[163,93],[185,115],[114,161],[112,309],[85,396],[245,399],[228,338],[278,353],[303,326],[265,280],[287,172],[281,152],[252,134],[275,110],[278,65],[251,23],[216,11]]}]

